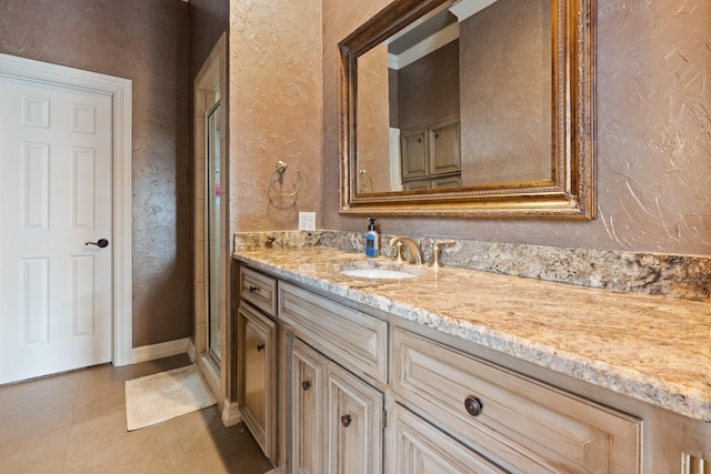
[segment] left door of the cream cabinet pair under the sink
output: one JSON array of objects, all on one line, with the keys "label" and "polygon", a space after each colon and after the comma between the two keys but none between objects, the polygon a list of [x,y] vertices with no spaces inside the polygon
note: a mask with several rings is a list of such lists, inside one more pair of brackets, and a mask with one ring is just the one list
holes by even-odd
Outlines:
[{"label": "left door of the cream cabinet pair under the sink", "polygon": [[326,377],[328,360],[294,339],[291,354],[292,471],[326,472]]}]

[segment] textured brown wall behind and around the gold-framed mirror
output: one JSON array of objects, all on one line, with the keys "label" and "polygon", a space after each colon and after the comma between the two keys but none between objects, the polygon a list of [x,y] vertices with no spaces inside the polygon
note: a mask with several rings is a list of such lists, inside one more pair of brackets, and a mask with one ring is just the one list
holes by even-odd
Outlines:
[{"label": "textured brown wall behind and around the gold-framed mirror", "polygon": [[[389,0],[323,4],[324,229],[339,215],[337,44]],[[598,1],[599,218],[381,219],[381,232],[609,250],[711,254],[711,2]]]}]

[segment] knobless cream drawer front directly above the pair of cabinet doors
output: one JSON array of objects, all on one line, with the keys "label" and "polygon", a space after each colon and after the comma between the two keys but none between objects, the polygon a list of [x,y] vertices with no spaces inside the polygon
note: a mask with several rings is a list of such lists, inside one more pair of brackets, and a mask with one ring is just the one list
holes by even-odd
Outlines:
[{"label": "knobless cream drawer front directly above the pair of cabinet doors", "polygon": [[387,322],[283,282],[279,285],[279,317],[338,364],[387,382]]}]

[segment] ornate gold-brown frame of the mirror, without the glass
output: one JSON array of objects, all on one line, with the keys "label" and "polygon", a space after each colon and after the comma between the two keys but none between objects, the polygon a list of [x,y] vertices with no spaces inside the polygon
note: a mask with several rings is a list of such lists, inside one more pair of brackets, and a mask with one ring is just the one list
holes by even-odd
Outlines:
[{"label": "ornate gold-brown frame of the mirror, without the glass", "polygon": [[340,212],[374,216],[594,219],[595,0],[551,0],[550,182],[358,192],[358,58],[444,1],[394,1],[339,43]]}]

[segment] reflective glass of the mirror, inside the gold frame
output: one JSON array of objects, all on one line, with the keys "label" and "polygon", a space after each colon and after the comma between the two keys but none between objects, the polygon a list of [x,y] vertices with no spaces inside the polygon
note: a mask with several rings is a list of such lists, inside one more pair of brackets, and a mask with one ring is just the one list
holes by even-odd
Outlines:
[{"label": "reflective glass of the mirror, inside the gold frame", "polygon": [[359,57],[360,192],[550,183],[550,0],[445,2]]}]

